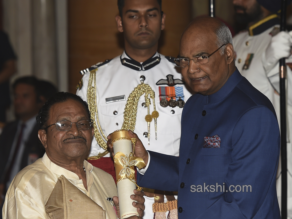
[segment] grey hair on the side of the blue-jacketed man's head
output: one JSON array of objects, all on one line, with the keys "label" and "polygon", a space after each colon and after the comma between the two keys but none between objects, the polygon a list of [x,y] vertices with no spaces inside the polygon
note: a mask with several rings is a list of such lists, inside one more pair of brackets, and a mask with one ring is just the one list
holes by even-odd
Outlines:
[{"label": "grey hair on the side of the blue-jacketed man's head", "polygon": [[[218,27],[216,27],[215,34],[217,36],[216,45],[218,46],[218,48],[222,46],[223,44],[227,44],[227,43],[232,44],[232,34],[230,32],[230,29],[223,22],[220,22]],[[224,50],[225,50],[225,46],[219,49],[220,55],[224,54]]]}]

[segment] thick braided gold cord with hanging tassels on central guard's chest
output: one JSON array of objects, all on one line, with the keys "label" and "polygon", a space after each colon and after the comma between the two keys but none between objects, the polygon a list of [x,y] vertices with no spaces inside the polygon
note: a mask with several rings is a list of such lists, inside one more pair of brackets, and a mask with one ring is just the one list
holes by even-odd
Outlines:
[{"label": "thick braided gold cord with hanging tassels on central guard's chest", "polygon": [[[148,124],[148,146],[150,145],[150,122],[152,121],[152,118],[154,118],[155,121],[155,137],[157,139],[157,117],[159,116],[159,113],[156,111],[155,107],[155,93],[152,90],[152,88],[148,84],[139,84],[134,91],[129,95],[127,104],[125,107],[124,112],[124,123],[122,126],[122,129],[131,129],[134,131],[135,124],[136,124],[136,116],[137,116],[137,107],[138,107],[138,101],[139,98],[145,93],[145,106],[147,106],[148,114],[145,117],[145,120]],[[153,101],[153,108],[154,111],[152,114],[150,114],[150,98],[148,98],[148,95],[150,95],[150,98]]]}]

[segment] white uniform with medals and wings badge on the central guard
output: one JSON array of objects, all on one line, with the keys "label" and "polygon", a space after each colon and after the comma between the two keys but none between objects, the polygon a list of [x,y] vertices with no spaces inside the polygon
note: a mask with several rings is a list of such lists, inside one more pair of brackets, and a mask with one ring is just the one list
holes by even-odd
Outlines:
[{"label": "white uniform with medals and wings badge on the central guard", "polygon": [[[157,140],[155,139],[155,122],[152,119],[150,122],[150,145],[148,146],[148,126],[145,120],[148,112],[147,107],[142,106],[145,103],[145,94],[139,98],[135,130],[133,131],[138,134],[146,150],[179,156],[180,119],[183,107],[180,105],[182,108],[178,106],[172,108],[164,105],[165,102],[160,104],[160,101],[173,98],[176,102],[181,100],[185,102],[192,94],[185,87],[182,75],[177,71],[173,62],[173,57],[156,53],[149,60],[139,63],[124,52],[110,61],[106,61],[101,65],[97,64],[83,72],[85,73],[82,78],[83,85],[80,90],[77,89],[77,95],[80,95],[88,102],[88,80],[91,73],[94,72],[98,119],[105,136],[117,129],[121,129],[127,99],[132,91],[141,84],[141,79],[144,84],[150,85],[155,93],[156,111],[159,112]],[[174,102],[173,100],[172,102]],[[152,114],[154,111],[152,99],[150,99],[150,103],[149,114]],[[98,155],[104,151],[94,138],[90,156]],[[109,154],[105,156],[109,156]],[[154,198],[145,197],[145,199],[143,218],[153,219],[152,204],[154,203]]]}]

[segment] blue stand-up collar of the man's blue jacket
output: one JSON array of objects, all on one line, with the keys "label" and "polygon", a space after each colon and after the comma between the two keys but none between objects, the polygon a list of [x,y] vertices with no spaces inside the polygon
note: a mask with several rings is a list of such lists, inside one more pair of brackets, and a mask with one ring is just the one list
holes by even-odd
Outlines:
[{"label": "blue stand-up collar of the man's blue jacket", "polygon": [[211,95],[206,95],[206,104],[212,104],[225,98],[237,86],[241,79],[242,75],[236,68],[219,91]]}]

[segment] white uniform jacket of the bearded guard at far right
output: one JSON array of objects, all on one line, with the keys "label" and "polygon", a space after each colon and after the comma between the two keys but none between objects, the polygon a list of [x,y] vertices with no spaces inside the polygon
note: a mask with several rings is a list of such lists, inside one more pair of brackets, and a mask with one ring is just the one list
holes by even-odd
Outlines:
[{"label": "white uniform jacket of the bearded guard at far right", "polygon": [[[277,15],[270,15],[248,30],[237,34],[233,39],[236,54],[236,66],[241,74],[265,94],[272,102],[278,122],[280,124],[280,96],[279,96],[279,63],[266,70],[264,67],[264,53],[269,46],[272,36],[279,32],[279,20]],[[286,60],[292,62],[292,58]],[[287,66],[287,178],[288,178],[288,218],[292,218],[292,74]],[[259,127],[260,128],[260,127]],[[281,160],[277,173],[277,194],[281,206]]]}]

